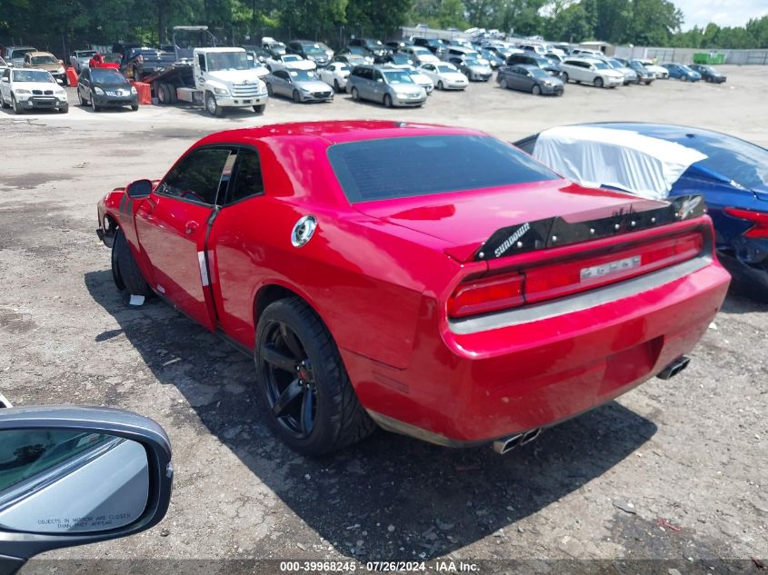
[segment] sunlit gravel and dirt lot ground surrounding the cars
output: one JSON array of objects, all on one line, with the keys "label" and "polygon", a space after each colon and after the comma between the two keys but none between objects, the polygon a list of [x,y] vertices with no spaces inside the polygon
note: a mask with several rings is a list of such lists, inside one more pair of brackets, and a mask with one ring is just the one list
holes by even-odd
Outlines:
[{"label": "sunlit gravel and dirt lot ground surrounding the cars", "polygon": [[[106,191],[162,177],[204,134],[255,124],[377,118],[516,140],[554,125],[628,120],[768,147],[764,67],[722,69],[726,84],[568,84],[562,97],[492,81],[435,91],[423,108],[403,110],[336,94],[329,104],[273,98],[262,115],[224,118],[182,105],[95,113],[75,105],[69,88],[68,114],[0,111],[0,391],[17,405],[139,411],[165,427],[175,450],[163,523],[49,557],[623,558],[671,567],[719,558],[752,570],[752,557],[768,555],[768,304],[729,296],[681,375],[647,382],[506,456],[379,432],[315,461],[260,421],[246,357],[162,302],[128,307],[95,234]],[[35,569],[47,572],[35,561],[22,572]]]}]

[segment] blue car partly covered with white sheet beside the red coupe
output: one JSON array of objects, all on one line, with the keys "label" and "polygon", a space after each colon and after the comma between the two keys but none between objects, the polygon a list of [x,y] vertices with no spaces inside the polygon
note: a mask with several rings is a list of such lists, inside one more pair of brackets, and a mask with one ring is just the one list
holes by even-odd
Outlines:
[{"label": "blue car partly covered with white sheet beside the red coupe", "polygon": [[[556,131],[563,132],[558,136]],[[543,136],[549,133],[562,145],[551,145],[546,153]],[[581,183],[655,198],[703,195],[714,224],[715,248],[733,275],[733,285],[768,301],[765,148],[709,130],[640,123],[564,126],[515,145]],[[683,159],[678,162],[673,155]],[[672,174],[665,183],[663,174]]]}]

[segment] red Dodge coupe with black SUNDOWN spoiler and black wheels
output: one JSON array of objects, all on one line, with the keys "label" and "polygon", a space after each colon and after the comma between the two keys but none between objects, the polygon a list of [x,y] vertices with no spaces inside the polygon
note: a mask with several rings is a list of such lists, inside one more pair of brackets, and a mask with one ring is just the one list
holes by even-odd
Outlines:
[{"label": "red Dodge coupe with black SUNDOWN spoiler and black wheels", "polygon": [[683,369],[730,281],[699,196],[583,188],[435,125],[212,134],[98,217],[117,287],[253,356],[313,455],[376,424],[508,451]]}]

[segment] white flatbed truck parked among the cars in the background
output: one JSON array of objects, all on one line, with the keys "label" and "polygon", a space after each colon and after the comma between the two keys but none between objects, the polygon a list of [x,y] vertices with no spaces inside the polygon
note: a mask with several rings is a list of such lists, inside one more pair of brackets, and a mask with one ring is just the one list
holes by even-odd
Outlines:
[{"label": "white flatbed truck parked among the cars in the background", "polygon": [[266,84],[244,48],[194,48],[191,56],[145,79],[152,84],[158,104],[204,104],[214,116],[224,115],[227,108],[264,112],[269,97]]}]

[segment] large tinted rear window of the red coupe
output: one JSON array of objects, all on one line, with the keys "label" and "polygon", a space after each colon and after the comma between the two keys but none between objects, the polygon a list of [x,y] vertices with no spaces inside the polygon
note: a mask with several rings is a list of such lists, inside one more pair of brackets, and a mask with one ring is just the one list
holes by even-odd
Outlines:
[{"label": "large tinted rear window of the red coupe", "polygon": [[514,146],[490,136],[430,135],[328,148],[350,203],[556,180]]}]

